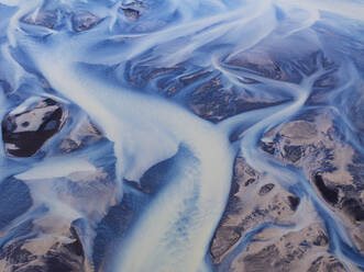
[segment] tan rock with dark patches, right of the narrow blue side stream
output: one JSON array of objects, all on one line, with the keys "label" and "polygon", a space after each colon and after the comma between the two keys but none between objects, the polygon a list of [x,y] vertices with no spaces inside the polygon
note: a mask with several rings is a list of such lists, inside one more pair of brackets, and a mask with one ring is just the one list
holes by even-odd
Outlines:
[{"label": "tan rock with dark patches, right of the narrow blue side stream", "polygon": [[[307,116],[310,121],[305,120]],[[275,152],[271,155],[302,169],[317,194],[345,222],[353,242],[364,253],[364,239],[357,235],[357,229],[364,227],[363,158],[342,141],[334,125],[334,113],[310,112],[301,118],[273,128],[265,135],[274,139],[271,148]],[[299,156],[291,147],[300,150]]]}]

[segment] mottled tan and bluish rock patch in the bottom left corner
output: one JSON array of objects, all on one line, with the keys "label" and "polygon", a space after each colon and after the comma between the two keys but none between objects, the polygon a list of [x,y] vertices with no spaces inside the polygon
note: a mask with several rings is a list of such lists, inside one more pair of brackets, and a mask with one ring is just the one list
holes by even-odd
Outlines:
[{"label": "mottled tan and bluish rock patch in the bottom left corner", "polygon": [[[11,236],[0,246],[0,271],[93,271],[93,228],[117,203],[114,182],[98,169],[26,183],[33,214],[20,216],[0,231],[2,237]],[[25,230],[19,227],[22,222],[27,223]]]}]

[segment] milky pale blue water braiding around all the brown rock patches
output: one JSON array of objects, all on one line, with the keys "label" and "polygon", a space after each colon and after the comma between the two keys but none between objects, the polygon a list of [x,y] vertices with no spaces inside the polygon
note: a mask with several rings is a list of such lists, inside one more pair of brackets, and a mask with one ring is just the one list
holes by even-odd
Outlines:
[{"label": "milky pale blue water braiding around all the brown rock patches", "polygon": [[[67,101],[71,109],[74,122],[65,125],[64,134],[86,113],[108,138],[64,157],[55,151],[62,132],[47,143],[42,156],[9,158],[1,145],[0,188],[5,186],[2,192],[9,194],[19,190],[22,200],[16,202],[12,195],[1,200],[0,228],[12,225],[0,237],[0,245],[18,231],[22,222],[14,223],[15,217],[23,214],[26,222],[37,216],[36,209],[29,214],[24,209],[32,203],[21,180],[52,180],[104,167],[118,184],[119,203],[129,203],[135,218],[120,229],[117,225],[124,223],[119,222],[109,233],[96,228],[96,234],[111,236],[107,241],[120,242],[114,242],[108,257],[91,242],[88,254],[95,263],[107,258],[106,270],[114,272],[211,271],[209,243],[240,154],[257,171],[312,202],[327,226],[332,253],[345,265],[363,269],[363,256],[340,218],[316,195],[304,173],[273,162],[257,145],[269,128],[319,106],[341,113],[337,125],[343,140],[363,154],[364,4],[339,0],[146,0],[128,4],[0,1],[0,116],[29,98],[52,97]],[[132,15],[122,7],[134,9]],[[239,58],[250,52],[262,66],[266,56],[279,61],[286,78],[240,67]],[[188,81],[199,72],[200,77]],[[216,77],[220,89],[208,86],[210,95],[194,94]],[[326,77],[337,80],[320,88]],[[177,91],[168,94],[172,88]],[[234,101],[223,104],[223,90],[257,104],[250,109]],[[198,116],[190,106],[192,99],[221,105],[212,115],[222,117]],[[230,141],[233,134],[235,139]],[[15,175],[18,180],[10,185]],[[135,190],[132,184],[140,181],[152,193]],[[42,195],[54,197],[51,191]],[[78,207],[65,208],[52,197],[36,203],[43,201],[49,213],[65,213],[75,220],[85,217]],[[246,234],[236,250],[250,237]]]}]

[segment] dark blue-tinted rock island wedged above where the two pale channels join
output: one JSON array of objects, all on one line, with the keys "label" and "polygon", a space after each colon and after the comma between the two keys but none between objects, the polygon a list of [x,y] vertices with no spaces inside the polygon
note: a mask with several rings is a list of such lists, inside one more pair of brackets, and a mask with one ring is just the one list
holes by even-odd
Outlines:
[{"label": "dark blue-tinted rock island wedged above where the two pale channels join", "polygon": [[225,88],[222,75],[214,76],[210,70],[187,72],[180,66],[152,68],[145,64],[135,64],[128,72],[128,79],[140,89],[147,84],[156,86],[158,94],[170,100],[180,102],[183,98],[191,112],[213,123],[284,101],[283,98],[252,98],[252,93],[244,89]]}]

